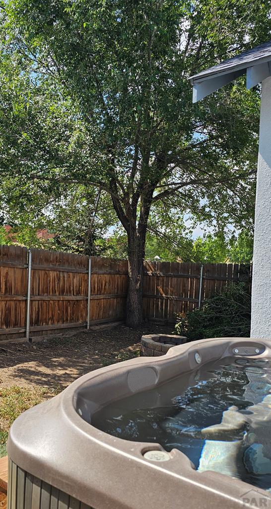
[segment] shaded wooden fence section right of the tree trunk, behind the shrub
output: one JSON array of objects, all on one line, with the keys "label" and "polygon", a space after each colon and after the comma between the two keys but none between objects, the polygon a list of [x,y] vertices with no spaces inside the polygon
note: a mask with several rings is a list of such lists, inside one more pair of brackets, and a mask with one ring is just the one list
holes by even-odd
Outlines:
[{"label": "shaded wooden fence section right of the tree trunk, behind the shrub", "polygon": [[143,315],[176,322],[229,282],[251,281],[252,267],[243,264],[144,262]]}]

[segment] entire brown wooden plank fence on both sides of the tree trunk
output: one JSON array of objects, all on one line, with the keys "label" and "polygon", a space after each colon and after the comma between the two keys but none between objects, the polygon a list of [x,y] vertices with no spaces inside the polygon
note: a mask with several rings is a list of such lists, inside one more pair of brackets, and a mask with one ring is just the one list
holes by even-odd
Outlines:
[{"label": "entire brown wooden plank fence on both sides of the tree trunk", "polygon": [[[125,320],[127,261],[0,246],[0,341]],[[143,314],[175,321],[227,281],[248,280],[242,265],[145,262]]]}]

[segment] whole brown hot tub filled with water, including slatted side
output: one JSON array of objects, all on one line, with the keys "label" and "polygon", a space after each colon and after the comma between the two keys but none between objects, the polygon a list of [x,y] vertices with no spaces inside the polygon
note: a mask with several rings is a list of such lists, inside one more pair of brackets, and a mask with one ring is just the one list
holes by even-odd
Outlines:
[{"label": "whole brown hot tub filled with water, including slatted side", "polygon": [[[269,372],[264,369],[271,358],[269,344],[251,338],[213,338],[176,346],[163,357],[136,358],[93,371],[52,400],[27,410],[9,434],[10,509],[268,507],[271,380],[269,384]],[[244,366],[248,366],[246,373]],[[236,377],[232,376],[235,367]],[[219,384],[229,398],[227,408],[222,406],[221,418],[213,418],[214,422],[211,418],[205,426],[200,398],[211,394],[219,406],[223,399]],[[243,394],[242,408],[237,393]],[[191,411],[187,404],[191,394],[194,413],[190,426],[179,433],[176,419],[184,409],[185,415]],[[182,435],[181,444],[165,440],[162,446],[156,441],[162,435],[155,421],[150,421],[154,433],[150,436],[148,428],[148,440],[141,439],[145,428],[143,435],[139,427],[133,429],[140,418],[148,418],[146,412],[157,408],[162,408],[161,429],[170,429],[174,437]],[[131,433],[129,425],[125,427],[124,439],[119,415],[126,411],[137,411],[139,420],[131,420]],[[205,424],[199,430],[201,415]],[[120,419],[119,427],[116,419]],[[103,431],[107,426],[111,434]],[[184,454],[184,436],[196,442],[195,457],[201,447],[198,465],[194,457],[191,460],[191,448]],[[263,472],[253,471],[259,468]],[[237,470],[241,478],[236,478]],[[245,471],[252,474],[246,476]],[[251,482],[254,477],[260,478],[256,486]]]}]

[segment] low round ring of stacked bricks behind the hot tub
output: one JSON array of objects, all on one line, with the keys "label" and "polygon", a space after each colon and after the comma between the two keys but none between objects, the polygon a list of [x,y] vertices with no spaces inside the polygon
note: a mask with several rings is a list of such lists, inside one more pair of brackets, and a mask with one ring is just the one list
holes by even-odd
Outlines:
[{"label": "low round ring of stacked bricks behind the hot tub", "polygon": [[186,336],[173,336],[171,334],[146,334],[141,337],[140,356],[159,357],[176,345],[187,342]]}]

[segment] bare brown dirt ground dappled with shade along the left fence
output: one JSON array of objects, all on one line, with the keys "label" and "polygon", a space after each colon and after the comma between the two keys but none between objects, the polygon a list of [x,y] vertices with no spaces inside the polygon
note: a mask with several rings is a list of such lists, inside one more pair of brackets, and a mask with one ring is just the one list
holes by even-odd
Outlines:
[{"label": "bare brown dirt ground dappled with shade along the left fence", "polygon": [[41,343],[0,344],[0,386],[63,389],[89,371],[138,355],[142,334],[170,334],[173,329],[146,324],[134,330],[121,325]]}]

